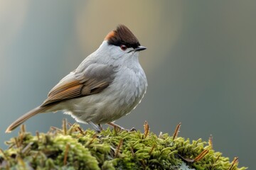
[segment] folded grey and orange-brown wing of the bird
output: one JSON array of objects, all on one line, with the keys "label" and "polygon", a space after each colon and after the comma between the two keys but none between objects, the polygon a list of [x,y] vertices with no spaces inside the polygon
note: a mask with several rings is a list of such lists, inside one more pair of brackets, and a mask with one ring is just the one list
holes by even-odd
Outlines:
[{"label": "folded grey and orange-brown wing of the bird", "polygon": [[49,92],[42,106],[97,94],[104,90],[114,79],[114,67],[105,64],[90,64],[81,72],[70,72]]}]

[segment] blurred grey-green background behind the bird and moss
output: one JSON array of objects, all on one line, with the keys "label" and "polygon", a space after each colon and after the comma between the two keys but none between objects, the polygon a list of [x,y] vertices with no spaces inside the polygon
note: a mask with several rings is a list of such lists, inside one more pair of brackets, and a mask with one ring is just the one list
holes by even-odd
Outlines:
[{"label": "blurred grey-green background behind the bird and moss", "polygon": [[[208,140],[216,151],[254,166],[256,1],[0,0],[0,147],[7,126],[123,23],[148,49],[140,53],[149,87],[117,120],[125,128]],[[61,127],[62,113],[37,115],[26,129]],[[82,125],[84,129],[91,128]],[[19,129],[19,128],[18,128]]]}]

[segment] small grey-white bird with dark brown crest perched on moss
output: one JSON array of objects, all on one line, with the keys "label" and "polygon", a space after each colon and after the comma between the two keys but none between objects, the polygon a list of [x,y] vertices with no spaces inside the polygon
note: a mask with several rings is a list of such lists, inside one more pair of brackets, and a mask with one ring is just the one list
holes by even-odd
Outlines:
[{"label": "small grey-white bird with dark brown crest perched on moss", "polygon": [[50,90],[41,106],[15,120],[6,132],[33,115],[56,111],[89,123],[98,132],[103,123],[123,129],[113,121],[136,108],[146,93],[146,75],[138,58],[142,50],[146,47],[131,30],[117,26],[95,52]]}]

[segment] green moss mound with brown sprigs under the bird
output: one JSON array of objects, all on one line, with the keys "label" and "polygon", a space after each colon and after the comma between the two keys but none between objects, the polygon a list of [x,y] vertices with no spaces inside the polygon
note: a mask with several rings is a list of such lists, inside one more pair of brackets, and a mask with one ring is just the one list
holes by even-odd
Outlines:
[{"label": "green moss mound with brown sprigs under the bird", "polygon": [[215,152],[210,142],[125,130],[51,128],[35,136],[21,128],[0,152],[0,169],[246,169]]}]

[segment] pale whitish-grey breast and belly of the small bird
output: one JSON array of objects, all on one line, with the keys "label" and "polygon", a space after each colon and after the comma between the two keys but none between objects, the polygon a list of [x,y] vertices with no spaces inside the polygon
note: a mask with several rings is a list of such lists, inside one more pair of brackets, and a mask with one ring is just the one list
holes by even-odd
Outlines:
[{"label": "pale whitish-grey breast and belly of the small bird", "polygon": [[140,103],[146,86],[146,76],[141,67],[136,72],[122,67],[122,70],[117,70],[112,84],[99,94],[65,101],[64,104],[69,106],[66,113],[83,123],[112,122],[130,113]]}]

